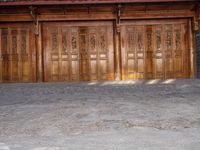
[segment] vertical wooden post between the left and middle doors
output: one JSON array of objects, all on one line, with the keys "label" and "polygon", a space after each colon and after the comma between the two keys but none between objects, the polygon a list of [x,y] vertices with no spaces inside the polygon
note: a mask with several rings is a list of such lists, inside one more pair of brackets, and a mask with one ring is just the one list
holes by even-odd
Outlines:
[{"label": "vertical wooden post between the left and middle doors", "polygon": [[43,54],[42,54],[42,25],[35,24],[35,45],[36,45],[36,80],[43,81]]}]

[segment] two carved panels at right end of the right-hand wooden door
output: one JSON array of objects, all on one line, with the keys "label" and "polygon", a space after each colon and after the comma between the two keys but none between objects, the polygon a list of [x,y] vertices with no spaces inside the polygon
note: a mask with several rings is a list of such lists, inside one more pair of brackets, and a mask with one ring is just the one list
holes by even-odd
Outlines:
[{"label": "two carved panels at right end of the right-hand wooden door", "polygon": [[165,78],[187,78],[189,73],[187,22],[164,25]]}]

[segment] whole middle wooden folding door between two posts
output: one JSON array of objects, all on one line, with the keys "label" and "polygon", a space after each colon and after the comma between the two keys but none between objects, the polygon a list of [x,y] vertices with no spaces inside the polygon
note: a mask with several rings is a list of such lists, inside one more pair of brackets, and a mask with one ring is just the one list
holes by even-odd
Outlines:
[{"label": "whole middle wooden folding door between two posts", "polygon": [[43,24],[45,81],[114,79],[111,22]]}]

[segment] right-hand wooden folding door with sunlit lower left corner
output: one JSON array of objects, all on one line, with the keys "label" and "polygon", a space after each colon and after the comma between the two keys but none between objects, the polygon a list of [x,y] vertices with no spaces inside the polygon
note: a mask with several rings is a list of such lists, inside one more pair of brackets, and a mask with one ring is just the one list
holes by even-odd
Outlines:
[{"label": "right-hand wooden folding door with sunlit lower left corner", "polygon": [[188,20],[123,22],[122,79],[189,78]]}]

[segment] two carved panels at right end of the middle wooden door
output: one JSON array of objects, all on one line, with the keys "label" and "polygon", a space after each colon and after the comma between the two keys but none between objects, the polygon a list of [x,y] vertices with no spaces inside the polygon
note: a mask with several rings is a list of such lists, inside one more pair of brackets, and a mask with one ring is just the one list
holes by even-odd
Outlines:
[{"label": "two carved panels at right end of the middle wooden door", "polygon": [[112,26],[93,26],[88,28],[88,33],[90,80],[113,80],[114,54]]}]

